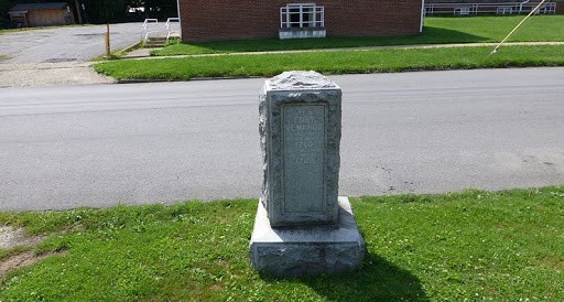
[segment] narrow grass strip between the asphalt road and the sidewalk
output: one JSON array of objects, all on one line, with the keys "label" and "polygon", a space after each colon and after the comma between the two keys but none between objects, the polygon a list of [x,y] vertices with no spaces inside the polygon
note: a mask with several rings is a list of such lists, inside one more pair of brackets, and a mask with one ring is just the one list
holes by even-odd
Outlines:
[{"label": "narrow grass strip between the asphalt road and the sidewalk", "polygon": [[117,79],[187,80],[194,77],[269,77],[292,69],[351,74],[564,65],[562,45],[506,46],[488,56],[491,50],[441,47],[121,60],[100,63],[95,68]]}]

